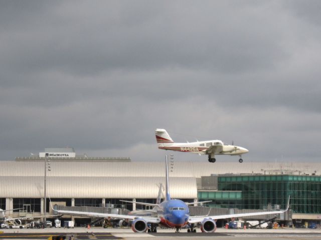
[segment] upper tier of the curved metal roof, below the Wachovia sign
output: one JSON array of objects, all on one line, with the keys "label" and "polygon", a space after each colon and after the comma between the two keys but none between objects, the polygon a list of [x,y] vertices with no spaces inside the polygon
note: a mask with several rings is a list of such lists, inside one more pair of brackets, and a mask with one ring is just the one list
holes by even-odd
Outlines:
[{"label": "upper tier of the curved metal roof, below the Wachovia sign", "polygon": [[[49,176],[165,176],[165,162],[159,161],[51,161]],[[174,163],[170,176],[201,177],[211,174],[273,173],[321,174],[321,163],[293,162],[215,162],[189,161]],[[43,176],[42,161],[0,161],[0,176]]]}]

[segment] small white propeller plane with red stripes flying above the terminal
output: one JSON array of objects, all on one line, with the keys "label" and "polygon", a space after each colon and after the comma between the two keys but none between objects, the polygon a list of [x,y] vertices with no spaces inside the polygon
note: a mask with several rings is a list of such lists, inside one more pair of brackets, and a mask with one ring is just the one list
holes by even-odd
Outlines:
[{"label": "small white propeller plane with red stripes flying above the terminal", "polygon": [[209,162],[215,162],[215,155],[239,155],[239,162],[243,162],[241,155],[249,150],[241,147],[224,144],[221,140],[195,141],[195,142],[174,142],[165,129],[155,130],[156,141],[159,149],[192,152],[209,156]]}]

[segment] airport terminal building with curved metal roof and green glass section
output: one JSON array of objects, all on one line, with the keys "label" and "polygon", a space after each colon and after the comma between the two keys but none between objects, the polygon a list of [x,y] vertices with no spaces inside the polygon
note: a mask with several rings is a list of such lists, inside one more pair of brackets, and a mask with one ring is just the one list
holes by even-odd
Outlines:
[{"label": "airport terminal building with curved metal roof and green glass section", "polygon": [[[280,216],[281,220],[320,223],[321,163],[174,160],[170,167],[173,198],[212,200],[207,206],[236,213],[240,209],[285,208],[290,195],[290,214]],[[43,215],[45,210],[51,214],[50,197],[58,205],[132,210],[141,206],[120,200],[155,203],[159,184],[165,185],[165,162],[88,157],[77,155],[73,148],[46,148],[39,155],[0,161],[0,180],[2,209],[24,207],[34,216]],[[28,212],[14,210],[7,215],[21,217]]]}]

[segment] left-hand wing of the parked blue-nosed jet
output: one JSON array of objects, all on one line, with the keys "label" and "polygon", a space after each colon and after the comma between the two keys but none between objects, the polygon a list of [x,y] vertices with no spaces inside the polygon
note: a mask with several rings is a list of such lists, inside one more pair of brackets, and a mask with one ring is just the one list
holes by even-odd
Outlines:
[{"label": "left-hand wing of the parked blue-nosed jet", "polygon": [[151,223],[159,223],[161,222],[161,218],[153,217],[153,216],[139,216],[139,215],[123,215],[123,214],[112,214],[112,213],[98,213],[98,212],[88,212],[88,211],[72,211],[72,210],[55,210],[54,211],[62,214],[68,215],[80,215],[80,216],[90,216],[90,217],[113,217],[113,218],[120,218],[120,219],[136,219],[136,218],[143,218],[147,222]]}]

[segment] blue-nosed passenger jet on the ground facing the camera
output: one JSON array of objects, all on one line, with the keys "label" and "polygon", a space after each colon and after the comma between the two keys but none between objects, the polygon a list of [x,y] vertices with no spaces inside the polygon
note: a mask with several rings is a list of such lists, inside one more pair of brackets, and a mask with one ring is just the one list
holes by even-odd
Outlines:
[{"label": "blue-nosed passenger jet on the ground facing the camera", "polygon": [[[158,193],[159,196],[159,193]],[[278,211],[263,211],[263,212],[251,212],[251,213],[241,213],[241,214],[227,214],[227,215],[214,215],[214,216],[190,216],[189,205],[199,203],[190,202],[186,203],[180,199],[172,199],[169,192],[169,168],[168,168],[168,156],[166,156],[166,194],[165,200],[160,203],[143,203],[136,201],[126,201],[147,206],[153,206],[152,210],[149,210],[150,214],[111,214],[111,213],[97,213],[97,212],[85,212],[85,211],[73,211],[73,210],[55,210],[54,211],[62,214],[68,215],[87,215],[91,217],[101,217],[101,218],[118,218],[118,219],[129,219],[132,220],[131,228],[135,232],[157,232],[156,228],[158,225],[164,227],[176,228],[178,232],[182,227],[190,224],[191,227],[188,232],[195,232],[195,223],[201,224],[201,230],[203,232],[214,232],[216,230],[216,219],[224,219],[231,217],[242,217],[242,216],[255,216],[264,214],[277,214],[287,211],[289,202],[285,210]],[[52,207],[52,206],[51,206]],[[146,210],[144,210],[146,211]],[[145,212],[146,213],[146,212]]]}]

